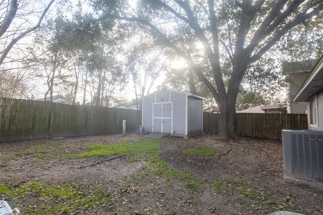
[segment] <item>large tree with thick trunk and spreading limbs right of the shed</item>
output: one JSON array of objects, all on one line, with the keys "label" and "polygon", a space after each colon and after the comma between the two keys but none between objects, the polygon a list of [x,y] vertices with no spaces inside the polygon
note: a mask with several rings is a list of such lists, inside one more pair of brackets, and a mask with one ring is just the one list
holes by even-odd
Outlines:
[{"label": "large tree with thick trunk and spreading limbs right of the shed", "polygon": [[137,10],[116,18],[136,23],[186,61],[219,105],[219,135],[234,138],[235,104],[247,71],[295,26],[321,20],[322,8],[321,0],[160,0],[140,1]]}]

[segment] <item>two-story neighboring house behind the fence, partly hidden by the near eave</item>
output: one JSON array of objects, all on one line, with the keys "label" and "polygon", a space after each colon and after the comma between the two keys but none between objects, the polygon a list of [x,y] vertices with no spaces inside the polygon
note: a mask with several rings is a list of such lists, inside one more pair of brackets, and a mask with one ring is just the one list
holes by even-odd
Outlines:
[{"label": "two-story neighboring house behind the fence, partly hidden by the near eave", "polygon": [[287,86],[287,97],[290,103],[287,107],[289,114],[307,114],[307,103],[304,101],[294,102],[292,99],[312,71],[315,60],[285,63],[283,74],[289,78]]}]

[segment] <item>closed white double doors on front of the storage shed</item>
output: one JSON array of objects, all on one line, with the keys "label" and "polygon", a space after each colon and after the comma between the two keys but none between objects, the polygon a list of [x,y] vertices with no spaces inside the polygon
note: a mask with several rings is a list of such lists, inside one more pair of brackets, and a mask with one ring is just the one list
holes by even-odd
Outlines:
[{"label": "closed white double doors on front of the storage shed", "polygon": [[172,133],[173,103],[153,104],[152,132]]}]

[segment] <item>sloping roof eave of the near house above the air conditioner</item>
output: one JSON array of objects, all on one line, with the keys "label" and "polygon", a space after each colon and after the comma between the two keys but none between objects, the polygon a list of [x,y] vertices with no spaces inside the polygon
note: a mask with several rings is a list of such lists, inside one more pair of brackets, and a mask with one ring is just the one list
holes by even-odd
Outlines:
[{"label": "sloping roof eave of the near house above the air conditioner", "polygon": [[293,101],[307,101],[313,95],[323,90],[323,56],[319,59],[313,71],[309,74]]}]

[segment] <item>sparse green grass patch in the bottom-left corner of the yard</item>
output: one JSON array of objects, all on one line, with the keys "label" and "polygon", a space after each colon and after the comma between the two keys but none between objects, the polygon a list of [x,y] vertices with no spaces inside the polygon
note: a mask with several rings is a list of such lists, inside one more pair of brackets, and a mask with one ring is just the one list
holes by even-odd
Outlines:
[{"label": "sparse green grass patch in the bottom-left corner of the yard", "polygon": [[29,193],[35,198],[41,199],[39,205],[31,205],[22,208],[22,214],[71,214],[78,208],[87,209],[110,201],[110,193],[102,192],[99,187],[93,191],[85,191],[76,184],[53,185],[49,182],[27,182],[10,186],[0,184],[0,193],[8,198],[22,199]]}]

